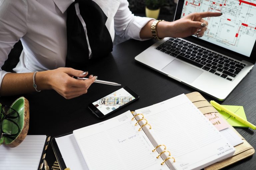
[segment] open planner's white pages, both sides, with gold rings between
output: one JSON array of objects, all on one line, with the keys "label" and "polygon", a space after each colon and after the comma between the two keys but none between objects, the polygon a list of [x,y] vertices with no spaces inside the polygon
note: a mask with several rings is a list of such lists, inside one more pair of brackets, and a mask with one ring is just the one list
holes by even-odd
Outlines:
[{"label": "open planner's white pages, both sides, with gold rings between", "polygon": [[61,169],[202,169],[235,148],[184,95],[52,139]]}]

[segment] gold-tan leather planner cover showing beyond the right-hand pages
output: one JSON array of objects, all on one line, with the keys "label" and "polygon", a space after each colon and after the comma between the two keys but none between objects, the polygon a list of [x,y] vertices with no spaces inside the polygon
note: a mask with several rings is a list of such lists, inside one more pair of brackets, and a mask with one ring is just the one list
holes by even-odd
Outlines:
[{"label": "gold-tan leather planner cover showing beyond the right-hand pages", "polygon": [[[200,93],[192,92],[186,94],[186,96],[203,114],[218,113],[218,111]],[[236,129],[233,128],[233,130],[241,137],[243,143],[235,146],[236,151],[232,157],[207,166],[204,168],[205,170],[221,169],[254,154],[254,148],[236,131]]]}]

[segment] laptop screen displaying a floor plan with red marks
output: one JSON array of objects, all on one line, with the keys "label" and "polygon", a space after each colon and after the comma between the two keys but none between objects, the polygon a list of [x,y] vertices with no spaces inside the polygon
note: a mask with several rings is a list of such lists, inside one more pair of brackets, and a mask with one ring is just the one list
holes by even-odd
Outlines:
[{"label": "laptop screen displaying a floor plan with red marks", "polygon": [[200,39],[247,57],[252,56],[256,41],[256,0],[181,1],[175,20],[194,12],[221,12],[223,15],[220,17],[204,18],[208,22],[208,30]]}]

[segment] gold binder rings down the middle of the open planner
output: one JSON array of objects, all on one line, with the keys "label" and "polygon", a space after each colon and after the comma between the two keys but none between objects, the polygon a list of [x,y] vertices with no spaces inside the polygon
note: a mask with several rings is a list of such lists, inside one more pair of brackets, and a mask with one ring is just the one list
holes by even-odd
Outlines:
[{"label": "gold binder rings down the middle of the open planner", "polygon": [[[138,129],[138,131],[140,131],[144,126],[146,126],[146,125],[148,125],[150,128],[149,129],[152,129],[152,127],[151,127],[151,125],[148,123],[148,121],[147,121],[147,119],[145,119],[145,117],[144,117],[144,115],[142,114],[142,113],[135,113],[135,112],[131,112],[131,114],[133,115],[133,118],[131,119],[131,121],[134,121],[134,120],[136,120],[137,121],[137,119],[136,119],[136,117],[138,117],[139,118],[139,120],[134,124],[134,126],[137,126],[141,121],[146,121],[145,123],[143,123],[141,126],[140,126],[140,128]],[[140,117],[140,115],[142,116],[142,118]],[[164,149],[161,149],[160,150],[160,147],[161,146],[164,146]],[[159,150],[158,150],[159,149]],[[163,165],[167,160],[169,160],[169,159],[173,159],[173,162],[175,162],[175,158],[174,157],[172,157],[171,156],[171,152],[169,151],[169,150],[166,150],[166,146],[164,145],[164,144],[159,144],[158,146],[156,146],[153,150],[152,150],[152,152],[154,152],[154,151],[157,151],[159,154],[158,154],[158,156],[156,157],[157,159],[159,158],[159,157],[161,157],[162,159],[163,159],[163,162],[161,163],[161,165]],[[169,153],[168,154],[168,156],[166,156],[166,158],[164,158],[164,157],[162,157],[163,155],[162,154],[164,154],[164,153]]]}]

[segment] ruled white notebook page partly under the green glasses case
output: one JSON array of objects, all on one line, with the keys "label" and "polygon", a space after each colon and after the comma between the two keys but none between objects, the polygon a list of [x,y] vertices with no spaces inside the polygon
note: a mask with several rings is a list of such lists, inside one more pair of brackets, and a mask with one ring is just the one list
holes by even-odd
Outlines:
[{"label": "ruled white notebook page partly under the green glasses case", "polygon": [[0,170],[37,170],[46,135],[27,135],[16,147],[0,146]]}]

